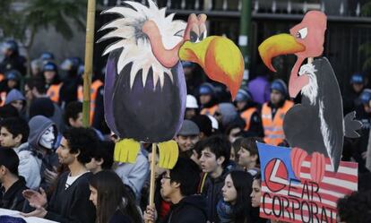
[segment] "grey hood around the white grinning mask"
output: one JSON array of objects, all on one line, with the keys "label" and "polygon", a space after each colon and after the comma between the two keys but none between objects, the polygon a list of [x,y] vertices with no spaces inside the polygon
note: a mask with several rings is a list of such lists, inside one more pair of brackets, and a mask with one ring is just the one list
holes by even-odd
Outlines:
[{"label": "grey hood around the white grinning mask", "polygon": [[29,135],[29,143],[32,149],[34,150],[42,150],[44,147],[42,147],[39,144],[39,141],[41,139],[41,136],[47,128],[50,126],[55,127],[55,134],[56,134],[56,124],[54,124],[50,119],[48,119],[46,116],[33,116],[30,119],[29,126],[30,126],[30,135]]}]

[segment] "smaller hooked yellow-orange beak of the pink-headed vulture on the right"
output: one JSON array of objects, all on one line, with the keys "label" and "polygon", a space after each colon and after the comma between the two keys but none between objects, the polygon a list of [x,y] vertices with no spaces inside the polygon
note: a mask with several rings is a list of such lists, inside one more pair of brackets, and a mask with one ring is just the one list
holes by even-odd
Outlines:
[{"label": "smaller hooked yellow-orange beak of the pink-headed vulture on the right", "polygon": [[273,57],[302,52],[306,50],[306,47],[289,34],[278,34],[265,39],[258,50],[263,63],[272,72],[276,72],[276,69],[272,65]]}]

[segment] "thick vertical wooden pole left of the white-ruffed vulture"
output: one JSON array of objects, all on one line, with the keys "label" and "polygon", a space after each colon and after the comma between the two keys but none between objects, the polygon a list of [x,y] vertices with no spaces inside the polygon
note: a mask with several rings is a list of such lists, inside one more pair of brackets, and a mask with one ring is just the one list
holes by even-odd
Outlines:
[{"label": "thick vertical wooden pole left of the white-ruffed vulture", "polygon": [[91,76],[94,49],[95,0],[88,0],[86,13],[85,65],[83,73],[82,124],[90,126],[91,114]]}]

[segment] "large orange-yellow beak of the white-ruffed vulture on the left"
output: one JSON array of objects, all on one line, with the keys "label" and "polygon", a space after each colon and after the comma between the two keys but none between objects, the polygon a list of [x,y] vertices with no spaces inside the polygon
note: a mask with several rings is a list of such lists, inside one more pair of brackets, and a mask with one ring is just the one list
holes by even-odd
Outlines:
[{"label": "large orange-yellow beak of the white-ruffed vulture on the left", "polygon": [[227,38],[211,36],[201,42],[186,41],[179,58],[200,64],[214,81],[228,86],[232,98],[237,95],[244,74],[244,59],[238,47]]}]

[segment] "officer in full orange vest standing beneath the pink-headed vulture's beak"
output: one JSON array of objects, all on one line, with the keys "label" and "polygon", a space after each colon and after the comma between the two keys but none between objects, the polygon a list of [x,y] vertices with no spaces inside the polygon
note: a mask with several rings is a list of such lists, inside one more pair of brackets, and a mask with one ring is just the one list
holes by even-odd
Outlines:
[{"label": "officer in full orange vest standing beneath the pink-headed vulture's beak", "polygon": [[272,81],[271,100],[265,102],[262,108],[264,142],[278,145],[285,140],[283,119],[294,103],[287,99],[288,87],[280,79]]}]

